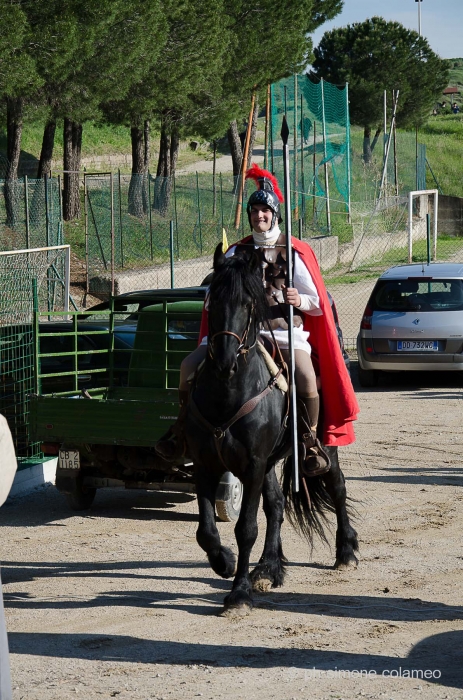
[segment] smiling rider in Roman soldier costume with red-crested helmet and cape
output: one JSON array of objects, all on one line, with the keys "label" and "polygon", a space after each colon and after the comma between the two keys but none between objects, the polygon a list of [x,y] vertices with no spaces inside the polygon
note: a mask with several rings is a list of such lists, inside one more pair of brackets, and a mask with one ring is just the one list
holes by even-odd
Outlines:
[{"label": "smiling rider in Roman soldier costume with red-crested helmet and cape", "polygon": [[[324,399],[321,432],[324,445],[348,445],[355,440],[352,421],[359,409],[315,254],[307,243],[292,238],[293,287],[286,287],[286,239],[279,228],[283,197],[278,183],[271,173],[257,165],[248,170],[246,178],[254,179],[258,189],[247,203],[252,235],[239,243],[254,243],[261,258],[263,283],[271,307],[270,325],[286,361],[289,353],[285,303],[294,306],[295,382],[303,471],[306,476],[317,476],[329,470],[330,460],[316,437],[320,399],[314,363]],[[227,256],[234,254],[236,245],[228,249]],[[206,333],[200,334],[201,344],[182,362],[179,417],[156,445],[158,454],[168,461],[175,461],[183,452],[181,434],[188,401],[188,379],[206,357]],[[261,335],[271,337],[268,329],[262,329]]]}]

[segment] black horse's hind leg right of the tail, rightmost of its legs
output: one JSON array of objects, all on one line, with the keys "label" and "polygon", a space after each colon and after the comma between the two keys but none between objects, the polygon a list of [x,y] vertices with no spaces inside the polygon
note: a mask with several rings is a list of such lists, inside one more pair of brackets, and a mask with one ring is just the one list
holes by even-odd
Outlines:
[{"label": "black horse's hind leg right of the tail, rightmost of its legs", "polygon": [[331,469],[321,477],[325,482],[331,500],[336,509],[336,562],[335,569],[356,568],[358,559],[355,552],[358,551],[357,533],[350,524],[346,507],[347,492],[344,474],[339,466],[338,450],[336,447],[325,448],[331,460]]}]

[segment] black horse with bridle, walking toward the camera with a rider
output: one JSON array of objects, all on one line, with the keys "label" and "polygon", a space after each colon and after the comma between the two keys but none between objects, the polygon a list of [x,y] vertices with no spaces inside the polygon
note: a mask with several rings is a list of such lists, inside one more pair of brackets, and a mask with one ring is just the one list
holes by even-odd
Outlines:
[{"label": "black horse with bridle, walking toward the camera with a rider", "polygon": [[[234,256],[225,258],[219,245],[210,287],[208,355],[190,394],[185,437],[196,473],[198,544],[219,576],[235,577],[225,598],[226,613],[248,613],[253,589],[265,591],[283,584],[286,560],[280,529],[285,499],[290,522],[310,542],[314,533],[326,541],[326,515],[335,512],[335,566],[357,565],[357,533],[349,523],[337,448],[326,448],[331,469],[327,474],[307,479],[307,489],[292,492],[291,459],[283,467],[283,491],[278,483],[275,462],[290,451],[289,431],[285,427],[287,396],[275,387],[256,348],[259,327],[267,318],[268,308],[262,270],[254,250],[238,247]],[[238,561],[230,549],[222,546],[215,523],[215,493],[226,470],[243,484],[241,512],[235,527]],[[265,546],[250,574],[261,494],[267,519]]]}]

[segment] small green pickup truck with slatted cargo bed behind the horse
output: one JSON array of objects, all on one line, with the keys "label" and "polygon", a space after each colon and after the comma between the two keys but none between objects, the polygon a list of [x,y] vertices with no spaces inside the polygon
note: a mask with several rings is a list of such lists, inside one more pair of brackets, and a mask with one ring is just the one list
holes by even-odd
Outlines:
[{"label": "small green pickup truck with slatted cargo bed behind the horse", "polygon": [[[89,508],[105,487],[195,492],[193,465],[173,466],[154,451],[177,416],[180,364],[197,345],[203,304],[197,288],[176,290],[175,301],[168,292],[163,299],[155,290],[154,303],[145,299],[137,311],[113,302],[69,313],[58,330],[55,316],[63,314],[50,314],[49,327],[36,316],[31,431],[45,454],[57,455],[56,487],[74,510]],[[43,393],[51,379],[54,393]],[[60,381],[66,390],[57,391]],[[219,518],[236,520],[241,497],[227,472],[216,494]]]}]

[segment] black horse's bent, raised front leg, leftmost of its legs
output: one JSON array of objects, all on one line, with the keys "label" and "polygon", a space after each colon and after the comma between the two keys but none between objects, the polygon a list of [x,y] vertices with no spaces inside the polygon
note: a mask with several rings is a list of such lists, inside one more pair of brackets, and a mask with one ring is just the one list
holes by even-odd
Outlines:
[{"label": "black horse's bent, raised front leg, leftmost of its legs", "polygon": [[236,557],[228,547],[220,543],[220,535],[215,524],[215,494],[220,477],[196,466],[196,493],[198,496],[199,524],[196,540],[204,549],[209,564],[222,578],[230,578],[236,570]]}]

